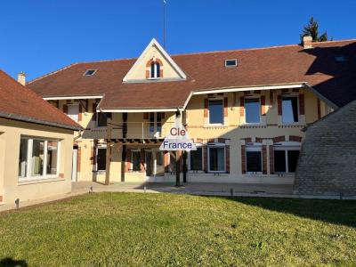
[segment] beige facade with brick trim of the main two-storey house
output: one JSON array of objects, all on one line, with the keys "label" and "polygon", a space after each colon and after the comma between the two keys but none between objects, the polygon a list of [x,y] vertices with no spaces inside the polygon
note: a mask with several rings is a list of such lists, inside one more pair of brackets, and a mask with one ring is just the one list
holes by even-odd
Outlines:
[{"label": "beige facade with brick trim of the main two-storey house", "polygon": [[[298,99],[298,118],[292,124],[283,123],[280,111],[280,99],[294,96]],[[260,101],[260,123],[248,124],[246,107],[241,101],[256,98]],[[227,101],[224,104],[222,125],[209,124],[206,101]],[[78,150],[76,181],[104,182],[105,169],[102,169],[106,148],[107,126],[98,125],[99,113],[94,114],[97,100],[61,100],[53,101],[60,109],[68,113],[70,105],[82,106],[77,121],[85,128],[81,138],[75,141]],[[303,111],[302,111],[303,109]],[[97,110],[99,111],[99,110]],[[161,117],[158,121],[158,113]],[[251,182],[251,183],[287,183],[294,182],[294,173],[277,173],[273,169],[273,148],[278,145],[300,147],[303,139],[301,131],[306,125],[324,117],[328,113],[327,105],[306,88],[262,90],[254,92],[235,92],[219,94],[193,95],[184,111],[183,122],[187,125],[190,138],[203,147],[202,168],[190,171],[190,155],[187,154],[188,182]],[[111,122],[113,141],[110,160],[110,182],[173,182],[174,157],[158,148],[174,123],[174,112],[127,112],[112,113]],[[158,126],[161,125],[159,133]],[[126,128],[125,128],[126,127]],[[150,127],[153,133],[150,133]],[[225,167],[223,172],[209,171],[208,149],[213,143],[225,148]],[[246,170],[246,149],[257,145],[263,153],[263,170],[248,173]],[[125,151],[123,151],[125,150]],[[133,170],[133,152],[140,157],[139,169]],[[159,153],[162,153],[158,155]],[[130,155],[128,155],[130,154]],[[98,158],[99,157],[99,158]],[[123,159],[123,157],[125,157]],[[244,159],[245,158],[245,159]],[[150,160],[150,163],[147,161]],[[101,169],[98,168],[101,161]],[[159,163],[159,164],[158,164]],[[153,164],[148,166],[148,164]],[[245,167],[244,167],[245,166]],[[227,169],[229,168],[229,169]],[[150,173],[150,174],[148,174]]]}]

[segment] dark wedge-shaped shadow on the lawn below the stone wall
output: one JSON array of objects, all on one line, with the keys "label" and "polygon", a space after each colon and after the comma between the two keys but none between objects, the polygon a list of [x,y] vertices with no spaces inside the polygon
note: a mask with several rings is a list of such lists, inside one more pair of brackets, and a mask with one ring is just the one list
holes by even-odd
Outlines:
[{"label": "dark wedge-shaped shadow on the lawn below the stone wall", "polygon": [[326,223],[342,224],[356,228],[356,201],[354,200],[216,196],[213,198],[225,198],[249,206],[258,206],[270,211],[284,214],[294,214],[307,219],[318,220]]}]

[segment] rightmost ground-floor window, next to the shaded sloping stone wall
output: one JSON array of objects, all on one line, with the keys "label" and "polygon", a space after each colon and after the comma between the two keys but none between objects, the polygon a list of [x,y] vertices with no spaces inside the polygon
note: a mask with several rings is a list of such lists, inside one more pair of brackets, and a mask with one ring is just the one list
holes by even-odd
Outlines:
[{"label": "rightmost ground-floor window, next to the shaded sloping stone wall", "polygon": [[274,171],[295,173],[300,147],[274,147]]}]

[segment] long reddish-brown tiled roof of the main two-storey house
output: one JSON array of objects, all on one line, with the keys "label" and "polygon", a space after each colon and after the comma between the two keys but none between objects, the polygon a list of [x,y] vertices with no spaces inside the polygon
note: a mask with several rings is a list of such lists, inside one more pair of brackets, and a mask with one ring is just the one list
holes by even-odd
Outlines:
[{"label": "long reddish-brown tiled roof of the main two-storey house", "polygon": [[[105,94],[101,108],[182,107],[191,91],[224,87],[308,83],[337,106],[356,99],[356,40],[298,44],[259,49],[173,55],[186,81],[123,84],[136,59],[77,63],[28,84],[42,96]],[[346,61],[337,62],[335,56]],[[224,61],[237,59],[237,68]],[[93,77],[86,69],[98,69]]]}]

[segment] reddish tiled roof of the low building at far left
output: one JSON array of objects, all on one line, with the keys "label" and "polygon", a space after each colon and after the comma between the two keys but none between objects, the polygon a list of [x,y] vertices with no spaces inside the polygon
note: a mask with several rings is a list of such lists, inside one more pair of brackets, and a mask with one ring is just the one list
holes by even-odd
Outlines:
[{"label": "reddish tiled roof of the low building at far left", "polygon": [[81,129],[80,125],[61,110],[54,108],[26,86],[20,85],[1,69],[0,117],[73,130]]}]

